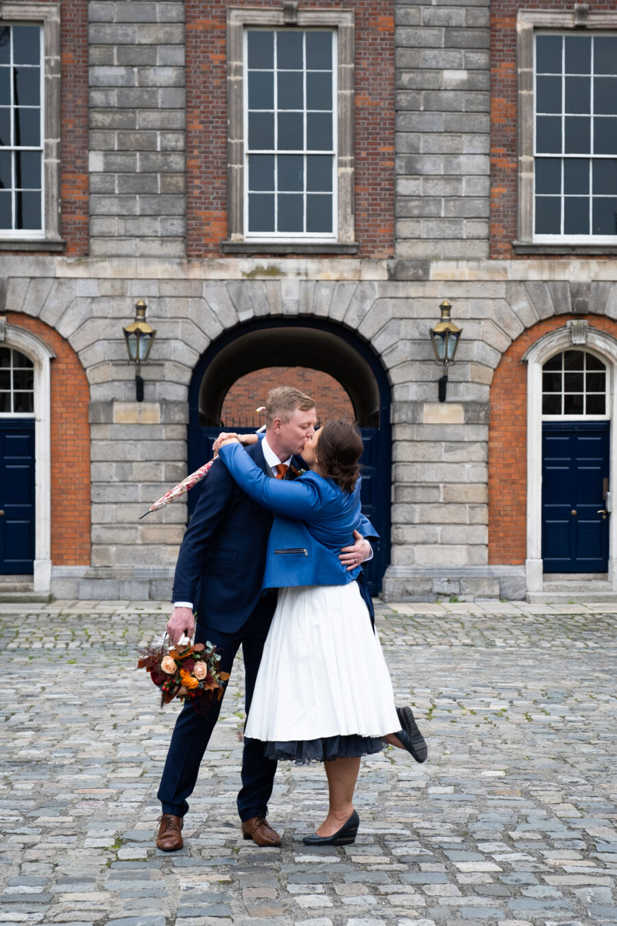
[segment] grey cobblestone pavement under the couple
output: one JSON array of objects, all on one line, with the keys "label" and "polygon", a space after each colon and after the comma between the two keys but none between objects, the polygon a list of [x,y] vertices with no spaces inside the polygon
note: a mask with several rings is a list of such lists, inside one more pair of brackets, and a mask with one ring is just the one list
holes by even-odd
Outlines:
[{"label": "grey cobblestone pavement under the couple", "polygon": [[241,839],[238,662],[186,845],[166,855],[154,794],[177,708],[159,710],[133,667],[167,606],[27,607],[0,606],[0,922],[616,926],[608,608],[378,607],[429,760],[389,749],[363,761],[361,829],[344,848],[302,845],[326,812],[319,767],[279,767],[282,848]]}]

